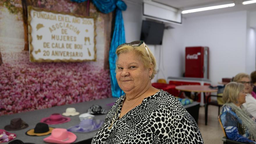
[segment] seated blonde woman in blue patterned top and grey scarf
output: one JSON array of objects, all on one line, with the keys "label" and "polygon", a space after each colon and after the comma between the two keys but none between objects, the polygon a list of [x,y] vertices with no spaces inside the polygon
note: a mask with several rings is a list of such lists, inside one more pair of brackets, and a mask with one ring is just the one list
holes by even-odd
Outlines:
[{"label": "seated blonde woman in blue patterned top and grey scarf", "polygon": [[230,82],[223,92],[221,122],[227,137],[233,141],[256,143],[256,121],[244,107],[246,93],[244,85]]}]

